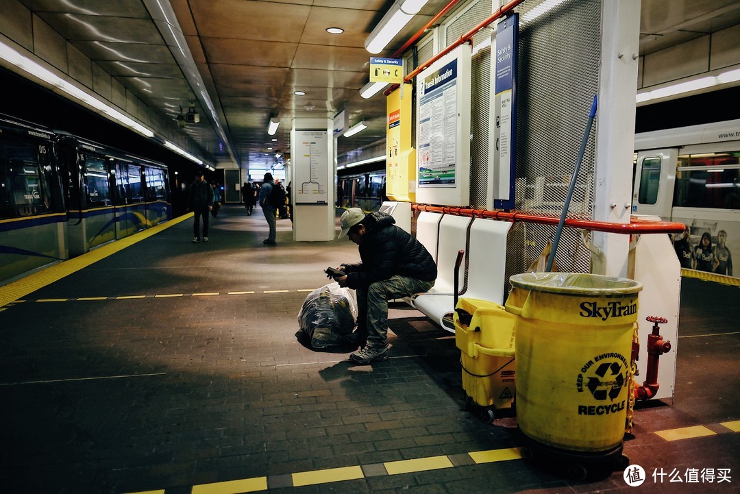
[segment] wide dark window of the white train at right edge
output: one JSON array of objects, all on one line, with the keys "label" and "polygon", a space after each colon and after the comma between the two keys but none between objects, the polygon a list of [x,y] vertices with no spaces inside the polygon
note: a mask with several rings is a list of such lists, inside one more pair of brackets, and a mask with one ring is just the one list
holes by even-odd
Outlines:
[{"label": "wide dark window of the white train at right edge", "polygon": [[740,152],[681,155],[673,206],[740,209]]}]

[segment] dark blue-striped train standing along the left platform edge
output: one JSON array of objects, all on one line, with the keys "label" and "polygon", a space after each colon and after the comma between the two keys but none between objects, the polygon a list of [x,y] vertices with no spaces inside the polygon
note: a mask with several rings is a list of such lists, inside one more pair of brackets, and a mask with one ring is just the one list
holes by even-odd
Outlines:
[{"label": "dark blue-striped train standing along the left platform edge", "polygon": [[0,283],[171,218],[164,164],[0,115]]}]

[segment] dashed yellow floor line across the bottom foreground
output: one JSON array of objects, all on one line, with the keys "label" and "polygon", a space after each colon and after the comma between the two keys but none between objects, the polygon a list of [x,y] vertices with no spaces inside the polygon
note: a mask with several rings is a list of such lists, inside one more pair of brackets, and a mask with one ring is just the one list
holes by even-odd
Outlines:
[{"label": "dashed yellow floor line across the bottom foreground", "polygon": [[[740,420],[733,422],[721,422],[719,425],[727,428],[731,432],[740,432]],[[682,439],[692,439],[704,436],[713,436],[717,433],[710,430],[707,426],[696,425],[692,427],[681,427],[678,429],[670,430],[659,430],[655,432],[656,435],[662,437],[666,441],[679,441]],[[484,450],[484,451],[472,451],[466,453],[471,459],[471,464],[484,464],[493,463],[497,461],[509,461],[522,459],[522,452],[519,447],[509,447],[500,450]],[[464,456],[465,453],[462,453]],[[455,455],[460,456],[460,455]],[[416,458],[399,461],[387,461],[380,465],[380,470],[384,470],[386,475],[397,475],[400,473],[417,473],[427,470],[440,470],[443,468],[454,468],[455,465],[460,465],[460,461],[453,461],[452,456],[428,456],[426,458]],[[465,461],[462,464],[467,464]],[[377,472],[377,467],[374,465],[369,466],[369,470]],[[288,485],[280,485],[280,487],[301,487],[306,485],[318,485],[318,484],[329,484],[332,482],[340,482],[346,480],[357,480],[359,478],[366,478],[371,475],[366,475],[363,472],[363,467],[360,465],[351,465],[349,467],[340,468],[329,468],[325,470],[312,470],[308,472],[297,472],[291,473],[287,476],[280,476],[280,478],[288,478]],[[377,476],[377,475],[372,475]],[[192,486],[192,494],[240,494],[240,493],[256,493],[260,491],[268,490],[268,478],[267,477],[254,477],[254,478],[243,478],[240,480],[214,482],[212,484],[199,484]],[[164,490],[152,490],[143,493],[129,493],[129,494],[150,494],[150,493],[164,493]]]}]

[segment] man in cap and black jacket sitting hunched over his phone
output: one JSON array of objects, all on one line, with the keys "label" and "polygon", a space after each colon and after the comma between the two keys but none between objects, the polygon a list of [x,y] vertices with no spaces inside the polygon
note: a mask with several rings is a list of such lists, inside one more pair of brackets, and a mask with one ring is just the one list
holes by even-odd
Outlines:
[{"label": "man in cap and black jacket sitting hunched over his phone", "polygon": [[346,274],[334,280],[357,292],[357,344],[349,359],[370,364],[388,359],[388,300],[428,291],[437,280],[437,265],[416,238],[385,213],[347,209],[337,238],[349,237],[360,251],[360,263],[342,264]]}]

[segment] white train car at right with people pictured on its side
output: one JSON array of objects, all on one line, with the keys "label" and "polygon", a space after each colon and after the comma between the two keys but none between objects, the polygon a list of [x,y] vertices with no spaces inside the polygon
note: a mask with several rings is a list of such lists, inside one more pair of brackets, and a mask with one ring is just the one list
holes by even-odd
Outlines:
[{"label": "white train car at right with people pictured on its side", "polygon": [[634,214],[684,223],[682,268],[740,277],[740,120],[635,135]]}]

